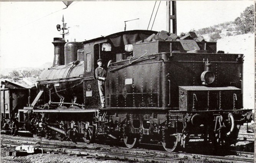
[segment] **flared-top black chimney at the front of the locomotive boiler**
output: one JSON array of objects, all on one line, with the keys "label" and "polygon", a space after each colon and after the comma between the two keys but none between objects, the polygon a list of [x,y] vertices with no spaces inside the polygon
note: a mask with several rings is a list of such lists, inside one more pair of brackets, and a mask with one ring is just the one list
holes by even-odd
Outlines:
[{"label": "flared-top black chimney at the front of the locomotive boiler", "polygon": [[60,37],[54,37],[52,43],[54,45],[53,67],[56,65],[64,65],[64,46],[66,44],[65,39],[62,39]]}]

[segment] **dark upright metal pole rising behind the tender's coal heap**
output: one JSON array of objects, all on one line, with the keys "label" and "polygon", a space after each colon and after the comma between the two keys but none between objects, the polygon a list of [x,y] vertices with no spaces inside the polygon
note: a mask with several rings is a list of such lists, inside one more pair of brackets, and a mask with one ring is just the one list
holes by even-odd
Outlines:
[{"label": "dark upright metal pole rising behind the tender's coal heap", "polygon": [[176,1],[166,1],[166,20],[166,31],[168,31],[169,33],[177,34]]}]

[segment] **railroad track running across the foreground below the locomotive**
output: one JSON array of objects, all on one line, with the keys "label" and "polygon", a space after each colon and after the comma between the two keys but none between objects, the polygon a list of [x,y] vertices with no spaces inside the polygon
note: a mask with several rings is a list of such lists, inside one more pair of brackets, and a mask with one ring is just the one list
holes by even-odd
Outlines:
[{"label": "railroad track running across the foreground below the locomotive", "polygon": [[[1,145],[8,147],[16,147],[21,144],[35,144],[40,146],[45,152],[62,152],[72,155],[84,155],[88,157],[100,157],[106,160],[119,159],[127,161],[158,161],[166,163],[190,163],[197,161],[226,161],[236,163],[254,162],[254,153],[251,152],[237,152],[231,151],[234,155],[239,156],[213,156],[200,155],[193,153],[181,152],[164,152],[159,150],[148,149],[128,149],[123,147],[111,147],[110,145],[73,143],[68,141],[36,139],[31,137],[12,137],[8,135],[1,135]],[[246,157],[245,157],[246,156]]]}]

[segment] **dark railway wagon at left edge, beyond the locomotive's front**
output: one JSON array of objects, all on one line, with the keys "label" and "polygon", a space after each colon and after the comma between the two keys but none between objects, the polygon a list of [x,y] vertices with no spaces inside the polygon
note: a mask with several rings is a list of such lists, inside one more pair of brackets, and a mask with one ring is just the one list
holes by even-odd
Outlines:
[{"label": "dark railway wagon at left edge, beyond the locomotive's front", "polygon": [[[17,134],[17,128],[22,128],[23,123],[19,123],[18,109],[30,106],[32,100],[37,95],[37,88],[26,88],[17,83],[5,80],[1,81],[1,133]],[[22,114],[23,116],[23,114]],[[22,117],[21,117],[22,119]]]}]

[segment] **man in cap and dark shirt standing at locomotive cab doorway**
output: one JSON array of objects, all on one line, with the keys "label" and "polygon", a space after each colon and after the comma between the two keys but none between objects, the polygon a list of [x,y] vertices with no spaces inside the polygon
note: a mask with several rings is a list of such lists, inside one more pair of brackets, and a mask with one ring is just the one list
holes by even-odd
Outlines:
[{"label": "man in cap and dark shirt standing at locomotive cab doorway", "polygon": [[98,91],[100,92],[101,108],[105,108],[105,80],[107,72],[103,68],[102,59],[97,60],[98,67],[95,69],[95,77],[98,80]]}]

